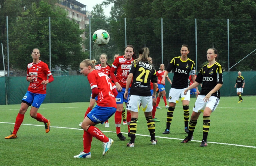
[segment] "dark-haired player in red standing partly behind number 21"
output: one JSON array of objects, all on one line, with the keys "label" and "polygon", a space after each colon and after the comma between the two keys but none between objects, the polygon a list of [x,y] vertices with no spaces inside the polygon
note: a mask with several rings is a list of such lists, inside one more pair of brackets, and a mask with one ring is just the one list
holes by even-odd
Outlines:
[{"label": "dark-haired player in red standing partly behind number 21", "polygon": [[[127,105],[126,99],[124,99],[124,92],[126,87],[126,81],[128,77],[128,73],[131,67],[131,64],[134,59],[136,59],[134,47],[132,45],[127,45],[125,48],[123,56],[119,56],[115,59],[112,64],[112,68],[110,70],[110,76],[114,83],[116,84],[116,89],[118,91],[118,95],[116,97],[117,110],[115,113],[115,124],[116,124],[116,134],[120,140],[125,140],[126,137],[122,135],[120,131],[121,122],[122,122],[122,110],[123,110],[123,102]],[[117,71],[115,77],[115,70]],[[131,87],[131,85],[130,85]],[[130,91],[130,89],[129,89]],[[128,136],[130,135],[130,122],[131,122],[131,113],[127,111],[127,126],[128,126]]]}]

